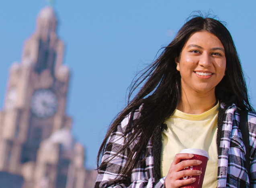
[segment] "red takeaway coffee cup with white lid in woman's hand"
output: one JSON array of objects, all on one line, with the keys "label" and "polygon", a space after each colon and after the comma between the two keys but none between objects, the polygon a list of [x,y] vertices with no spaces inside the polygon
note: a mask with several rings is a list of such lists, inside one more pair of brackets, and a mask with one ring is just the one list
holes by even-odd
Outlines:
[{"label": "red takeaway coffee cup with white lid in woman's hand", "polygon": [[205,177],[205,169],[206,169],[207,161],[209,160],[207,151],[205,151],[203,149],[189,148],[189,149],[183,149],[182,151],[180,151],[180,153],[191,153],[194,155],[194,157],[192,157],[191,159],[182,159],[180,161],[194,160],[194,159],[202,161],[202,163],[197,166],[188,166],[183,169],[183,170],[200,170],[200,171],[202,171],[202,174],[200,174],[199,176],[184,176],[184,177],[180,178],[180,180],[186,180],[186,179],[190,179],[190,178],[197,179],[194,183],[182,186],[180,188],[202,188],[203,179]]}]

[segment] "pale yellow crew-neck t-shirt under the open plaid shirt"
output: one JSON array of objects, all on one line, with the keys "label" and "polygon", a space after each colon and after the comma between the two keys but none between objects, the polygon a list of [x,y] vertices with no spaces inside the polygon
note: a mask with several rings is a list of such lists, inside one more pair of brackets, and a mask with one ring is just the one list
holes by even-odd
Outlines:
[{"label": "pale yellow crew-neck t-shirt under the open plaid shirt", "polygon": [[219,102],[203,114],[186,114],[175,110],[165,123],[167,130],[162,132],[161,176],[167,176],[174,156],[182,149],[197,148],[207,151],[207,162],[203,188],[217,187],[217,116]]}]

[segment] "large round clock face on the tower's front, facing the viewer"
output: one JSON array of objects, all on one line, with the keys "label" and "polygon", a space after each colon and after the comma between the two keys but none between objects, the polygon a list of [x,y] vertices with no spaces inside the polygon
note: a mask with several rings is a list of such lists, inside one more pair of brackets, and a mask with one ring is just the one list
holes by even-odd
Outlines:
[{"label": "large round clock face on the tower's front, facing the viewer", "polygon": [[57,111],[57,96],[49,89],[36,90],[31,97],[30,106],[31,112],[38,118],[49,118]]}]

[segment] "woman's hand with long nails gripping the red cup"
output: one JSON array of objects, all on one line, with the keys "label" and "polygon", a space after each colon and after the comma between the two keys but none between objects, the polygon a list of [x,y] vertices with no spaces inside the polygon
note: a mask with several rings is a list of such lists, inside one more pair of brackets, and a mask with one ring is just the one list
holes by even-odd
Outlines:
[{"label": "woman's hand with long nails gripping the red cup", "polygon": [[183,176],[199,176],[202,174],[202,172],[199,170],[182,170],[185,167],[196,166],[202,163],[202,161],[199,160],[187,160],[180,162],[181,159],[191,159],[192,157],[194,157],[194,155],[188,153],[178,153],[175,155],[165,179],[166,188],[178,188],[180,186],[194,183],[196,178],[190,178],[186,180],[180,180],[180,178]]}]

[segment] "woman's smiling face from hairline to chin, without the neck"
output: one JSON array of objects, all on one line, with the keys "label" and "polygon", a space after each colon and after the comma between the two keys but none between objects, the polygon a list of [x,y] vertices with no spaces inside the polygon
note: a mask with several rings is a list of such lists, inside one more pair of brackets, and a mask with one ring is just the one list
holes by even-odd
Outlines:
[{"label": "woman's smiling face from hairline to chin, without the neck", "polygon": [[175,59],[184,91],[215,92],[226,69],[221,41],[207,31],[193,33]]}]

